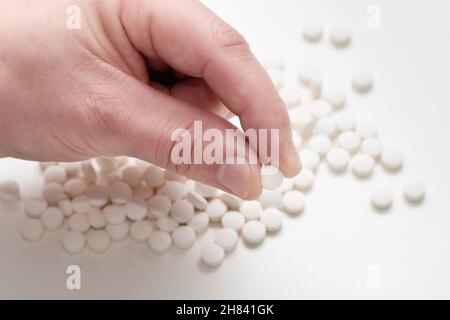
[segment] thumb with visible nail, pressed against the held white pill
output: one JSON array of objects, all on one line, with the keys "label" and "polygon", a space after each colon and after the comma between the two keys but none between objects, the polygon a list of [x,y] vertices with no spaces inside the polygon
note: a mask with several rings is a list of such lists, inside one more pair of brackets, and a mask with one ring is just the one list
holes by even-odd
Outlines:
[{"label": "thumb with visible nail, pressed against the held white pill", "polygon": [[[227,152],[224,141],[222,144],[212,139],[206,141],[210,128],[225,139],[227,129],[236,129],[229,122],[131,77],[120,88],[123,96],[109,100],[109,105],[99,108],[100,114],[95,116],[108,123],[104,128],[109,132],[102,135],[113,137],[109,145],[114,154],[143,159],[243,199],[259,196],[260,167],[255,160],[251,162],[245,140],[241,147],[247,151],[242,163],[236,150]],[[213,146],[211,142],[215,143],[214,163],[212,152],[208,152]]]}]

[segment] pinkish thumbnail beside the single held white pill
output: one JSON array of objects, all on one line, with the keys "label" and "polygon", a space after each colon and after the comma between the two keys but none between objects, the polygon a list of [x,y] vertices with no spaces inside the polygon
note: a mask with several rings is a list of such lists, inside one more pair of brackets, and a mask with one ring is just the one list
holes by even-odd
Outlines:
[{"label": "pinkish thumbnail beside the single held white pill", "polygon": [[251,184],[249,164],[243,158],[227,158],[217,172],[217,181],[235,195],[247,197]]}]

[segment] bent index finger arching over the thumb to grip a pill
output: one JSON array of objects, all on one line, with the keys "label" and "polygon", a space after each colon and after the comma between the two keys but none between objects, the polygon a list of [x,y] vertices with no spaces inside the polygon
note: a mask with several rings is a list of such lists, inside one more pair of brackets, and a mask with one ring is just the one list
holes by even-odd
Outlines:
[{"label": "bent index finger arching over the thumb to grip a pill", "polygon": [[[136,48],[144,54],[154,50],[174,69],[202,77],[244,130],[278,129],[279,166],[287,177],[297,174],[301,165],[286,108],[244,38],[198,1],[127,3],[122,20]],[[140,10],[134,8],[138,4]],[[136,11],[139,23],[133,23]]]}]

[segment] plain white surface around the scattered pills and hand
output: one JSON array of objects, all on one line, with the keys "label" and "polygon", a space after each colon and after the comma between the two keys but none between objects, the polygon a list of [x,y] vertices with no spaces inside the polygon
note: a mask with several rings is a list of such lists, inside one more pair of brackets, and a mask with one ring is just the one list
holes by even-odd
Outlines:
[{"label": "plain white surface around the scattered pills and hand", "polygon": [[[199,265],[201,242],[190,251],[156,256],[125,241],[95,255],[66,255],[59,233],[25,243],[17,228],[21,205],[0,205],[0,298],[450,298],[450,2],[205,1],[239,29],[258,57],[285,57],[293,82],[297,65],[317,63],[326,82],[349,88],[356,64],[374,72],[367,96],[349,97],[349,110],[379,124],[384,141],[400,146],[406,165],[397,175],[378,167],[368,181],[319,169],[307,209],[285,220],[282,232],[258,248],[240,244],[217,270]],[[366,28],[369,4],[381,8],[382,29]],[[353,42],[336,50],[328,38],[306,45],[307,17],[348,23]],[[43,141],[42,143],[45,143]],[[425,203],[401,196],[406,177],[425,180]],[[0,160],[0,179],[16,178],[25,195],[42,183],[36,165]],[[392,185],[395,204],[375,212],[373,186]],[[78,264],[82,290],[65,287],[65,269]]]}]

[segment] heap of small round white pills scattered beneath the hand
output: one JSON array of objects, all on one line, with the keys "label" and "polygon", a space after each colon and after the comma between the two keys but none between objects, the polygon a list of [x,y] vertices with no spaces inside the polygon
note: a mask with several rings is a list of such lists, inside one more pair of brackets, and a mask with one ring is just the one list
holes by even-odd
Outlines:
[{"label": "heap of small round white pills scattered beneath the hand", "polygon": [[[323,33],[324,27],[317,21],[304,25],[303,37],[308,42],[321,41]],[[348,46],[350,29],[333,27],[330,41],[341,49]],[[203,247],[199,258],[208,267],[218,267],[227,253],[237,248],[240,238],[249,245],[260,245],[266,234],[281,230],[285,215],[301,214],[305,194],[321,164],[334,172],[351,171],[358,179],[368,179],[377,165],[391,172],[402,168],[402,152],[381,141],[374,123],[341,111],[346,105],[346,86],[328,86],[318,67],[303,65],[298,70],[296,89],[288,89],[284,60],[272,57],[264,65],[289,109],[294,141],[304,166],[298,176],[285,179],[276,167],[263,167],[264,191],[259,200],[242,201],[125,157],[40,163],[45,184],[39,197],[24,200],[23,238],[36,242],[45,233],[62,230],[63,249],[77,254],[85,248],[102,253],[114,242],[130,237],[137,243],[147,243],[155,254],[164,254],[171,247],[191,248],[199,234],[211,229],[214,240]],[[354,70],[348,86],[360,94],[368,93],[373,86],[371,72],[366,68]],[[423,182],[405,182],[407,201],[419,203],[425,192]],[[20,199],[17,182],[0,183],[0,201]],[[389,186],[376,186],[370,200],[376,209],[388,210],[394,192]]]}]

